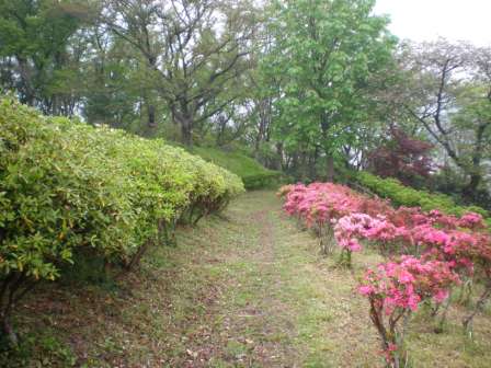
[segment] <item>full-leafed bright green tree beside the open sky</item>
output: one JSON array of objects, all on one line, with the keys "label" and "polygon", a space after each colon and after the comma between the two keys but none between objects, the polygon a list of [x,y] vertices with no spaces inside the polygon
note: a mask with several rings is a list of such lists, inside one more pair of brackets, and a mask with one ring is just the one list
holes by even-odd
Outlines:
[{"label": "full-leafed bright green tree beside the open sky", "polygon": [[387,19],[373,15],[373,0],[274,1],[274,49],[264,62],[283,74],[281,116],[285,148],[320,152],[327,176],[333,160],[366,117],[370,76],[390,60],[395,39]]}]

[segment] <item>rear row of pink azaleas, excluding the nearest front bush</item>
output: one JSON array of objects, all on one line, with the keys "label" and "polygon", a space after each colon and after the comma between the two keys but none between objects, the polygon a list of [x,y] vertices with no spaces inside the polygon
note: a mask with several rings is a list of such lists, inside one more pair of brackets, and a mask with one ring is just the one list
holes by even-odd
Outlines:
[{"label": "rear row of pink azaleas, excluding the nearest front bush", "polygon": [[[458,218],[429,212],[420,208],[392,208],[386,200],[368,198],[346,186],[332,183],[296,184],[284,186],[279,194],[285,198],[284,210],[302,220],[308,228],[331,228],[341,250],[358,252],[362,240],[397,245],[392,255],[421,255],[439,253],[441,258],[456,265],[470,264],[479,258],[480,264],[488,261],[489,237],[481,215],[466,214]],[[321,232],[318,232],[321,233]],[[476,249],[478,246],[478,249]],[[392,246],[393,248],[393,246]],[[453,258],[453,260],[452,260]]]}]

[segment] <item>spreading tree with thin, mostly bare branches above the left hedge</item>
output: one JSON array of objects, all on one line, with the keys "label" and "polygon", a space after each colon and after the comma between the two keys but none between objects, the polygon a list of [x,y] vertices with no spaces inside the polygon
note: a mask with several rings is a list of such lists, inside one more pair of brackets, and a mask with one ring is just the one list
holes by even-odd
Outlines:
[{"label": "spreading tree with thin, mostly bare branches above the left hedge", "polygon": [[249,7],[253,9],[249,2],[215,0],[106,1],[105,22],[146,58],[155,91],[168,104],[185,145],[192,145],[197,124],[236,99],[233,93],[222,96],[248,68],[254,30]]}]

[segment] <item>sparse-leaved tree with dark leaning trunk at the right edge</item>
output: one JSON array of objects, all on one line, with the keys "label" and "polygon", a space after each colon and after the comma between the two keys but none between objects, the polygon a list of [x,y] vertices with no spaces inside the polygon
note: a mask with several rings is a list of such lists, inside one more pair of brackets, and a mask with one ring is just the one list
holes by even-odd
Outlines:
[{"label": "sparse-leaved tree with dark leaning trunk at the right edge", "polygon": [[467,179],[472,199],[491,146],[491,49],[445,39],[408,44],[401,103]]}]

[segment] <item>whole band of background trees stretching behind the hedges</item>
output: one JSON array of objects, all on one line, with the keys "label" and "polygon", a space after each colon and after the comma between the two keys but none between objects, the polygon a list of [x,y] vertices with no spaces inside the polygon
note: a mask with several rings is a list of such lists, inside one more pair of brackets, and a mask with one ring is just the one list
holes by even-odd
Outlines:
[{"label": "whole band of background trees stretching behind the hedges", "polygon": [[369,169],[488,202],[491,48],[399,42],[375,0],[0,0],[0,85],[45,114]]}]

